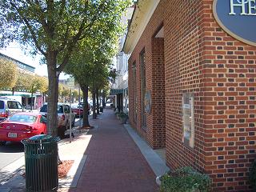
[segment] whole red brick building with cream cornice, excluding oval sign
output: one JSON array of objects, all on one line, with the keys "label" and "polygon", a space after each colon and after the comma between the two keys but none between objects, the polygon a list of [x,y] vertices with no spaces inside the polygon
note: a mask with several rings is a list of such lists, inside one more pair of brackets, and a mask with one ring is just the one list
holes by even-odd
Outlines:
[{"label": "whole red brick building with cream cornice, excluding oval sign", "polygon": [[214,191],[250,191],[256,47],[227,34],[214,0],[139,0],[124,52],[129,116],[172,169],[209,174]]}]

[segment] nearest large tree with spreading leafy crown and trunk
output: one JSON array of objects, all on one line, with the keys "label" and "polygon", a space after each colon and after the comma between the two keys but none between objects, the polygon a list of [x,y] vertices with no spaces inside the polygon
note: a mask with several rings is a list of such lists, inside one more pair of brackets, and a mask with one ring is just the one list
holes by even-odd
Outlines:
[{"label": "nearest large tree with spreading leafy crown and trunk", "polygon": [[[1,45],[17,40],[44,56],[49,92],[47,132],[57,134],[58,77],[78,42],[115,28],[128,0],[2,0]],[[97,36],[97,35],[96,35]],[[103,42],[102,42],[103,43]]]}]

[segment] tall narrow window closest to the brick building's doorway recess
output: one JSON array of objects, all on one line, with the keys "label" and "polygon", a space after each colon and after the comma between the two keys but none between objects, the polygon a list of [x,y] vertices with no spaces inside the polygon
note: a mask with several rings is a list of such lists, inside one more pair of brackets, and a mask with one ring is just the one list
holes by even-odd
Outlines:
[{"label": "tall narrow window closest to the brick building's doorway recess", "polygon": [[145,94],[146,94],[146,65],[145,65],[145,49],[140,54],[141,64],[141,106],[142,106],[142,128],[146,130],[146,110],[145,110]]}]

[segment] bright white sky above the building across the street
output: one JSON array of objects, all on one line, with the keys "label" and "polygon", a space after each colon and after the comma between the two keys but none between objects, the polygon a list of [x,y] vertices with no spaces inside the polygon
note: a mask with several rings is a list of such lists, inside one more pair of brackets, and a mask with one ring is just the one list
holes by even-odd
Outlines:
[{"label": "bright white sky above the building across the street", "polygon": [[[47,66],[41,65],[39,63],[41,55],[37,55],[36,57],[32,57],[29,53],[25,53],[24,50],[22,50],[22,47],[18,45],[16,42],[10,43],[9,46],[6,48],[0,49],[1,54],[6,54],[7,56],[17,59],[20,62],[24,62],[27,65],[34,66],[35,67],[35,74],[38,74],[40,76],[48,76],[47,74]],[[68,75],[60,74],[59,79],[65,79],[69,78]]]}]

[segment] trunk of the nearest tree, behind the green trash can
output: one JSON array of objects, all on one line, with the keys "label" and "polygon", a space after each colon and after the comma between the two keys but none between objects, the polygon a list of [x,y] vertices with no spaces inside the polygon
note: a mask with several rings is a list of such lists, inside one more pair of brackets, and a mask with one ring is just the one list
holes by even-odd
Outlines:
[{"label": "trunk of the nearest tree, behind the green trash can", "polygon": [[58,135],[58,76],[59,72],[56,70],[56,55],[50,54],[47,58],[47,70],[49,91],[47,99],[47,134],[52,136]]}]

